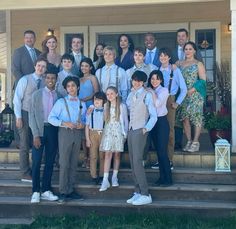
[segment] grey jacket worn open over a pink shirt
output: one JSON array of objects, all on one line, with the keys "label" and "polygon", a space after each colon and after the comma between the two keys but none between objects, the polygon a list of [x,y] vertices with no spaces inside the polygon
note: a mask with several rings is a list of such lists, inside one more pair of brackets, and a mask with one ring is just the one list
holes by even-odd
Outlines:
[{"label": "grey jacket worn open over a pink shirt", "polygon": [[44,130],[43,90],[44,88],[35,91],[31,99],[31,107],[29,111],[29,126],[31,128],[33,137],[43,136],[43,130]]}]

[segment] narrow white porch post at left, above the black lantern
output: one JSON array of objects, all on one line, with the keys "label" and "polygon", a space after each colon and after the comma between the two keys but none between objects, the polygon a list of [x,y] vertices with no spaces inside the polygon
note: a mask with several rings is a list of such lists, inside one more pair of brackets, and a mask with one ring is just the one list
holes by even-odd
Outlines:
[{"label": "narrow white porch post at left, above the black lantern", "polygon": [[6,102],[11,104],[13,96],[13,77],[11,74],[11,11],[6,10],[6,35],[7,35],[7,72],[6,72]]}]

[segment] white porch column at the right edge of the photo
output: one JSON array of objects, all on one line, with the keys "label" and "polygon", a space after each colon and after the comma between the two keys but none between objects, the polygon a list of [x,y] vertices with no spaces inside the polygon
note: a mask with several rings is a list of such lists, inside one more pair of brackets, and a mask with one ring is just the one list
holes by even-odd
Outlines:
[{"label": "white porch column at the right edge of the photo", "polygon": [[236,152],[236,1],[230,1],[231,9],[231,72],[232,72],[232,152]]}]

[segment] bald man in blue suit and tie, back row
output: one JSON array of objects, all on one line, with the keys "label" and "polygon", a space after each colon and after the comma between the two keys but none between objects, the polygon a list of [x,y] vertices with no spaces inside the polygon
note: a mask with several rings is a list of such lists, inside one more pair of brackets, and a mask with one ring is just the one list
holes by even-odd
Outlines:
[{"label": "bald man in blue suit and tie, back row", "polygon": [[146,33],[144,44],[146,47],[145,64],[154,64],[157,67],[160,67],[159,50],[156,47],[157,40],[155,35],[153,33]]}]

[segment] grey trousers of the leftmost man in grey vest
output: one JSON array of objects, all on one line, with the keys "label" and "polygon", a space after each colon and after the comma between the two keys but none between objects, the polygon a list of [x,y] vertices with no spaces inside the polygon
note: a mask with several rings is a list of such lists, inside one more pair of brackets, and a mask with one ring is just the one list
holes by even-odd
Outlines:
[{"label": "grey trousers of the leftmost man in grey vest", "polygon": [[21,175],[31,175],[31,169],[29,164],[29,149],[32,144],[32,133],[29,127],[29,115],[27,111],[22,110],[22,128],[18,129],[20,137],[20,171]]}]

